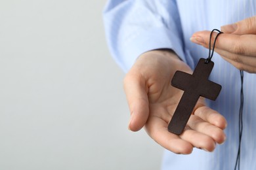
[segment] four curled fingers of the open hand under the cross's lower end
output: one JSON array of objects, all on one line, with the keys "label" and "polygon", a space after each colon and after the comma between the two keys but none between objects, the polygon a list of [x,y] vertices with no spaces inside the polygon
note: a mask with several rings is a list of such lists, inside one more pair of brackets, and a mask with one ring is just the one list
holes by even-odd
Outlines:
[{"label": "four curled fingers of the open hand under the cross's lower end", "polygon": [[177,154],[190,154],[193,147],[212,152],[216,142],[223,143],[226,139],[222,129],[195,115],[191,116],[188,126],[179,136],[170,133],[167,130],[167,123],[158,116],[148,118],[145,127],[154,141]]}]

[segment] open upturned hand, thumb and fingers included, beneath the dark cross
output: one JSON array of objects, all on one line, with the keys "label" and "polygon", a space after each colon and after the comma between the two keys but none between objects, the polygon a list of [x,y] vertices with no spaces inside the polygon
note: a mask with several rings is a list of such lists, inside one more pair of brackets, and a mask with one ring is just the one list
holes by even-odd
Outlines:
[{"label": "open upturned hand, thumb and fingers included, beneath the dark cross", "polygon": [[192,73],[191,69],[169,51],[154,50],[140,56],[124,80],[131,110],[129,129],[145,127],[148,135],[164,148],[179,154],[190,154],[193,147],[213,151],[223,143],[226,120],[205,106],[200,98],[181,135],[167,130],[181,99],[182,90],[171,86],[175,71]]}]

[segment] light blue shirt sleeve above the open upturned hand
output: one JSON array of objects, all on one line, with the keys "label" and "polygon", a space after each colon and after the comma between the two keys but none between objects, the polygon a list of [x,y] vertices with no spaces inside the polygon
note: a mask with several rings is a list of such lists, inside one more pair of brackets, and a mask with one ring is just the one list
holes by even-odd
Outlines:
[{"label": "light blue shirt sleeve above the open upturned hand", "polygon": [[126,72],[140,54],[170,48],[183,61],[179,10],[173,0],[110,0],[104,9],[110,52]]}]

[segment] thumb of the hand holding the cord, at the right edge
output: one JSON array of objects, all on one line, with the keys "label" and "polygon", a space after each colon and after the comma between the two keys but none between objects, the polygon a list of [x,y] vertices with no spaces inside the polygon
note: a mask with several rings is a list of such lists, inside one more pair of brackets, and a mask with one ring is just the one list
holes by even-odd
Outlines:
[{"label": "thumb of the hand holding the cord, at the right edge", "polygon": [[221,27],[224,33],[234,33],[238,35],[243,34],[256,34],[256,16],[246,18],[235,24],[224,25]]}]

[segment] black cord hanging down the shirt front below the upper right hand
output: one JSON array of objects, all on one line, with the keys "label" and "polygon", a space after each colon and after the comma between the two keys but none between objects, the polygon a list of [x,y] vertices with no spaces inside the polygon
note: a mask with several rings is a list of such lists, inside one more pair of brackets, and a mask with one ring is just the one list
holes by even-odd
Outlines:
[{"label": "black cord hanging down the shirt front below the upper right hand", "polygon": [[243,134],[243,108],[244,108],[244,71],[240,71],[241,76],[241,93],[240,93],[240,109],[239,109],[239,144],[238,144],[238,154],[236,156],[236,165],[234,169],[238,167],[240,170],[240,156],[241,156],[241,143],[242,143],[242,134]]}]

